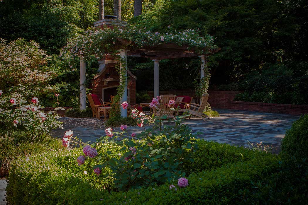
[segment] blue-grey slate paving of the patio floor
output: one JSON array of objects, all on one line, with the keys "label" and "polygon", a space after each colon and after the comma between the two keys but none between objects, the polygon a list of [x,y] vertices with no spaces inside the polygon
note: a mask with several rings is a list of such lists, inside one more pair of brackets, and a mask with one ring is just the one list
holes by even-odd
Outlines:
[{"label": "blue-grey slate paving of the patio floor", "polygon": [[[239,146],[248,146],[248,141],[251,143],[259,143],[262,141],[265,144],[278,147],[285,136],[286,129],[290,128],[292,123],[299,116],[264,113],[239,110],[216,109],[220,113],[220,117],[212,118],[204,122],[200,118],[192,118],[186,121],[186,124],[192,129],[192,132],[197,138],[205,140],[213,140],[219,143],[227,143]],[[62,129],[53,131],[53,136],[62,137],[65,130],[71,129],[74,135],[78,136],[82,141],[96,141],[100,136],[105,135],[105,127],[91,128],[89,126],[79,126],[78,123],[66,124],[67,117],[60,120],[63,121]],[[147,128],[147,127],[146,127]],[[113,128],[114,131],[120,131],[119,128]],[[144,128],[137,126],[128,127],[128,132],[140,133]],[[199,133],[200,132],[200,133]]]}]

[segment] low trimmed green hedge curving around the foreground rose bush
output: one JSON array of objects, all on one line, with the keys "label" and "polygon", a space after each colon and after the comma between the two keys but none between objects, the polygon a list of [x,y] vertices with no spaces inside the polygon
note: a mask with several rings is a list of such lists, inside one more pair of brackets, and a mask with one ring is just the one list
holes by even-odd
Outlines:
[{"label": "low trimmed green hedge curving around the foreground rose bush", "polygon": [[73,149],[17,160],[8,177],[6,200],[9,204],[230,204],[242,201],[241,190],[279,165],[274,155],[203,140],[198,144],[196,160],[190,164],[189,186],[177,187],[177,191],[166,183],[109,193],[103,187],[112,179],[93,173],[95,160],[78,166],[76,158],[82,150]]}]

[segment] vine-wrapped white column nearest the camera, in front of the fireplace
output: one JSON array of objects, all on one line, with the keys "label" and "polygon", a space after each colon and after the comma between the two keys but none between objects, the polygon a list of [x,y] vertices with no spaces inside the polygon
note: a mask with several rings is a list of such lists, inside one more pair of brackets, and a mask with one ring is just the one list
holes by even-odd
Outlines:
[{"label": "vine-wrapped white column nearest the camera, in front of the fireplace", "polygon": [[[124,62],[123,65],[122,62],[120,61],[120,85],[124,84],[124,93],[120,98],[120,104],[121,104],[124,101],[127,101],[127,56],[126,56],[126,50],[121,49],[119,51],[122,61]],[[125,70],[125,72],[123,70]],[[127,117],[127,109],[124,110],[122,106],[120,108],[121,108],[121,116]]]}]

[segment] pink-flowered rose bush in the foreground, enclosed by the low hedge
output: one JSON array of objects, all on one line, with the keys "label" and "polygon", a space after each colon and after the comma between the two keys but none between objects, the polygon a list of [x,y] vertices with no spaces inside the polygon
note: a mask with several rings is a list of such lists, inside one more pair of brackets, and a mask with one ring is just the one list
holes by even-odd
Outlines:
[{"label": "pink-flowered rose bush in the foreground, enclosed by the low hedge", "polygon": [[[152,103],[158,104],[155,99]],[[126,102],[121,105],[127,108]],[[162,116],[145,116],[136,109],[131,113],[140,127],[143,127],[143,124],[153,124],[153,128],[144,129],[139,135],[132,133],[131,136],[127,134],[127,125],[120,126],[122,132],[113,132],[112,128],[106,128],[106,137],[99,139],[93,147],[86,145],[83,148],[85,156],[79,156],[78,164],[83,164],[84,157],[97,156],[99,164],[93,168],[95,173],[100,176],[100,171],[106,166],[109,167],[112,170],[115,190],[163,184],[174,181],[175,178],[179,178],[179,187],[186,187],[188,181],[184,178],[186,173],[183,162],[193,161],[192,155],[197,145],[190,129],[183,123],[184,117],[177,116],[175,126],[162,126]],[[65,135],[63,139],[70,138]],[[117,147],[119,155],[108,158],[109,151],[104,151],[106,147]],[[110,177],[110,174],[104,177]]]}]

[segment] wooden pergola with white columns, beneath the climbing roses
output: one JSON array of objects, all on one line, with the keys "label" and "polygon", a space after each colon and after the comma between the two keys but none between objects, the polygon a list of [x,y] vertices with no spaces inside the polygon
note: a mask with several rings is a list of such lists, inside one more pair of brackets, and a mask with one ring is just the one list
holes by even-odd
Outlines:
[{"label": "wooden pergola with white columns, beneath the climbing roses", "polygon": [[[102,19],[103,25],[107,25],[106,22],[111,22],[110,19]],[[101,25],[100,21],[96,22],[97,25]],[[114,23],[114,22],[113,22]],[[95,25],[95,23],[94,23]],[[96,25],[95,25],[96,26]],[[206,55],[198,53],[197,48],[188,47],[186,45],[176,45],[172,43],[158,44],[152,46],[136,46],[134,42],[127,41],[125,39],[117,38],[118,43],[115,46],[118,50],[118,55],[122,58],[122,61],[125,62],[125,65],[122,65],[120,62],[120,70],[125,70],[123,73],[125,76],[120,76],[120,84],[124,83],[124,93],[120,99],[120,103],[127,101],[127,57],[147,57],[154,61],[154,96],[159,96],[159,61],[162,59],[171,59],[171,58],[182,58],[182,57],[201,57],[200,63],[200,77],[201,79],[205,76],[206,69],[206,56],[216,53],[220,50],[218,49],[209,49],[204,47],[203,51],[206,51]],[[205,53],[205,52],[203,52]],[[86,108],[86,88],[84,86],[86,75],[86,63],[83,58],[80,58],[80,109]],[[121,74],[122,75],[122,74]],[[122,81],[121,79],[126,79]],[[126,110],[121,108],[121,116],[126,117]]]}]

